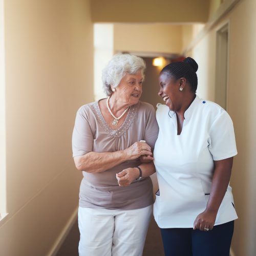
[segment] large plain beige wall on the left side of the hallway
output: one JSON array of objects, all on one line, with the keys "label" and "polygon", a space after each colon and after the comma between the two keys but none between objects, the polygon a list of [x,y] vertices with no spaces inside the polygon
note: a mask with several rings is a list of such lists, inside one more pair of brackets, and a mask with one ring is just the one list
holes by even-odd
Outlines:
[{"label": "large plain beige wall on the left side of the hallway", "polygon": [[76,210],[71,136],[93,100],[87,0],[6,0],[7,220],[0,254],[47,255]]}]

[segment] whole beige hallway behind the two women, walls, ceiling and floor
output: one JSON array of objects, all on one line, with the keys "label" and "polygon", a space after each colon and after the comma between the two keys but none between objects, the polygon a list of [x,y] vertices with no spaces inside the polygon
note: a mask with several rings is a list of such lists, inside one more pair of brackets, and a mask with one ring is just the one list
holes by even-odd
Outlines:
[{"label": "whole beige hallway behind the two women, walls, ceiling and floor", "polygon": [[[255,13],[255,0],[0,0],[1,256],[77,253],[82,175],[71,137],[78,108],[95,100],[95,24],[111,27],[111,56],[196,59],[197,94],[225,104],[236,134],[230,255],[254,256]],[[155,83],[143,88],[154,104]],[[144,256],[163,255],[160,238],[152,222]]]}]

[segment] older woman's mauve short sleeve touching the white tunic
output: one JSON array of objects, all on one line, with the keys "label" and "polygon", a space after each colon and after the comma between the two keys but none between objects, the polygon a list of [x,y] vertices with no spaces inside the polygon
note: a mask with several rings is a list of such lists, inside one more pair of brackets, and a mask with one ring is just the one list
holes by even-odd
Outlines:
[{"label": "older woman's mauve short sleeve touching the white tunic", "polygon": [[156,111],[152,105],[150,105],[150,112],[146,123],[146,129],[144,133],[144,140],[151,146],[152,151],[155,147],[155,143],[158,137],[158,124],[156,120]]}]

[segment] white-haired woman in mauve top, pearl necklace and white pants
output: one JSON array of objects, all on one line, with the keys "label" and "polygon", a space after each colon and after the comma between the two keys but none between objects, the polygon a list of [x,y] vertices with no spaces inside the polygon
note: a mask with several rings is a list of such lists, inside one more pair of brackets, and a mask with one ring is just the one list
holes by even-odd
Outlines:
[{"label": "white-haired woman in mauve top, pearl necklace and white pants", "polygon": [[115,55],[102,75],[108,98],[77,112],[72,145],[83,173],[80,256],[142,255],[153,208],[147,176],[154,172],[150,162],[158,135],[153,106],[139,101],[144,70],[141,58]]}]

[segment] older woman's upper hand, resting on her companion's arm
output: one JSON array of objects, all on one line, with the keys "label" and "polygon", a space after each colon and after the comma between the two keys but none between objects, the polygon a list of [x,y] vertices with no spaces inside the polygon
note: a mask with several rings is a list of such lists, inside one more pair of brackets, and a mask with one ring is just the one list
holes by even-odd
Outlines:
[{"label": "older woman's upper hand, resting on her companion's arm", "polygon": [[151,147],[145,142],[135,142],[124,150],[124,153],[130,160],[139,158],[140,156],[152,156]]}]

